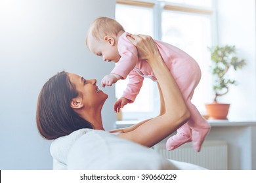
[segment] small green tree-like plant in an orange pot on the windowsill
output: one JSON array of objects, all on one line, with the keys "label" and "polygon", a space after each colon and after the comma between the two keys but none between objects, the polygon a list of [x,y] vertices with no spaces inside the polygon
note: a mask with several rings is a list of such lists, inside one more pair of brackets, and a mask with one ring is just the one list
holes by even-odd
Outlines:
[{"label": "small green tree-like plant in an orange pot on the windowsill", "polygon": [[231,85],[236,85],[236,80],[228,76],[228,71],[234,69],[242,69],[245,65],[245,60],[240,59],[236,53],[236,47],[225,46],[213,46],[209,48],[211,51],[211,74],[213,75],[213,92],[215,97],[213,103],[206,104],[207,115],[211,119],[215,120],[227,120],[228,110],[230,104],[219,103],[219,97],[226,95],[229,92]]}]

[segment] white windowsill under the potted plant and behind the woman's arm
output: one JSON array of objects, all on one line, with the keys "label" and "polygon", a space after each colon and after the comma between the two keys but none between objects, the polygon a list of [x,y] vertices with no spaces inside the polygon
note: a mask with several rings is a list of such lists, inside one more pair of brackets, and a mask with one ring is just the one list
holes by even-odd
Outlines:
[{"label": "white windowsill under the potted plant and behind the woman's arm", "polygon": [[[129,127],[137,124],[142,120],[121,120],[116,121],[116,127]],[[256,122],[230,122],[228,120],[207,120],[211,126],[245,126],[245,125],[256,125]]]}]

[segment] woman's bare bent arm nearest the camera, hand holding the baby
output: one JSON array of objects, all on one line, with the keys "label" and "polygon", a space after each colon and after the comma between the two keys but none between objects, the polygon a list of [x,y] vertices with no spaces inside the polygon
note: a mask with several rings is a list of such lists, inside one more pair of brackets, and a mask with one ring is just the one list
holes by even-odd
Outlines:
[{"label": "woman's bare bent arm nearest the camera, hand holding the baby", "polygon": [[146,35],[131,35],[129,40],[137,46],[139,58],[148,61],[156,78],[158,78],[165,104],[165,113],[146,120],[133,131],[121,133],[118,136],[151,147],[184,124],[190,117],[190,112],[186,108],[181,92],[152,38]]}]

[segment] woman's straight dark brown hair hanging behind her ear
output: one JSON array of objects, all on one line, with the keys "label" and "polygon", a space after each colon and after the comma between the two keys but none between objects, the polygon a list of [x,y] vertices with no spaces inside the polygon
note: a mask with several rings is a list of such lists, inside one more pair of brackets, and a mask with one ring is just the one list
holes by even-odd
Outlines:
[{"label": "woman's straight dark brown hair hanging behind her ear", "polygon": [[90,122],[70,107],[77,95],[66,71],[57,73],[45,83],[39,93],[36,113],[37,129],[45,139],[57,139],[81,128],[93,129]]}]

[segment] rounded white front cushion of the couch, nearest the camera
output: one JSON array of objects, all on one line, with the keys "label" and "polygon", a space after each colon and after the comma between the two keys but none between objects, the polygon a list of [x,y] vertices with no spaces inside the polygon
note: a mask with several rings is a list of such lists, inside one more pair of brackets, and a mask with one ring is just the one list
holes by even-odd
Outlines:
[{"label": "rounded white front cushion of the couch, nearest the camera", "polygon": [[177,169],[152,149],[98,130],[74,142],[66,165],[67,169]]}]

